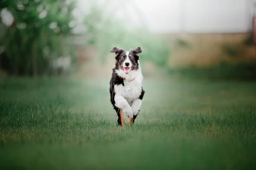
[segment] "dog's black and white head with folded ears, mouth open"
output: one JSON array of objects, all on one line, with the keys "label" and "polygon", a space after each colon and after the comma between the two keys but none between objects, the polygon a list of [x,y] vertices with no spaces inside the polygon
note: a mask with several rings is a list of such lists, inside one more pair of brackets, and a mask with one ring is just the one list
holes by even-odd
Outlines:
[{"label": "dog's black and white head with folded ears, mouth open", "polygon": [[114,47],[111,53],[116,53],[116,69],[124,71],[125,74],[129,74],[131,70],[137,70],[139,68],[139,55],[142,52],[140,47],[125,51],[121,48]]}]

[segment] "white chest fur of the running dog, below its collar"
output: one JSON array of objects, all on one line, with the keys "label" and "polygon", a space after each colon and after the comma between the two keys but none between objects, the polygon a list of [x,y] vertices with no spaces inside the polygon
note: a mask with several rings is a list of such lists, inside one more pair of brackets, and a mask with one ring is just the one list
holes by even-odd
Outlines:
[{"label": "white chest fur of the running dog, below its collar", "polygon": [[135,78],[133,81],[127,82],[127,85],[130,86],[130,90],[126,90],[126,85],[123,86],[122,84],[120,84],[114,86],[114,91],[116,95],[124,97],[130,105],[134,99],[140,97],[142,91],[143,75],[140,71],[136,71],[126,77],[126,79],[133,78]]}]

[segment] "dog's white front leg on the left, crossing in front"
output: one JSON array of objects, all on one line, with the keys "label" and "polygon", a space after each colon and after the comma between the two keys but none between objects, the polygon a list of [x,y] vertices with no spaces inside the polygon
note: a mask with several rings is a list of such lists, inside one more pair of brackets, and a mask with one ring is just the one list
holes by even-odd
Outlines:
[{"label": "dog's white front leg on the left, crossing in front", "polygon": [[116,95],[114,100],[115,100],[115,106],[119,109],[122,109],[125,115],[128,116],[128,118],[132,119],[133,112],[127,100],[124,97],[119,95]]}]

